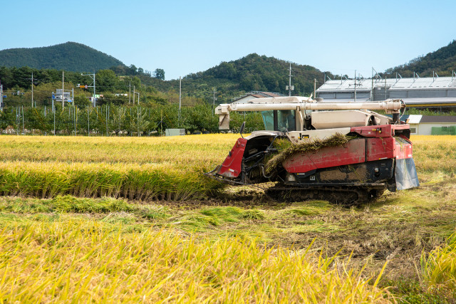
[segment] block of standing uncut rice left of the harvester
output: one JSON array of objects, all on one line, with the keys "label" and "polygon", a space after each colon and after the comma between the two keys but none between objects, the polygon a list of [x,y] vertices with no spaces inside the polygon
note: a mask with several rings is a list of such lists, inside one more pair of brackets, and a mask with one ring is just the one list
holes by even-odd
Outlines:
[{"label": "block of standing uncut rice left of the harvester", "polygon": [[0,194],[207,199],[224,185],[202,173],[236,138],[0,137]]}]

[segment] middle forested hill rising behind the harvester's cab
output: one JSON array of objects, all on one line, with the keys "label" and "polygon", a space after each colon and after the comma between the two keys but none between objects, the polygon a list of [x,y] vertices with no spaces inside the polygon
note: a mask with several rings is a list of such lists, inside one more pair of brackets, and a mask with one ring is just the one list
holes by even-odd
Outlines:
[{"label": "middle forested hill rising behind the harvester's cab", "polygon": [[[122,69],[115,72],[120,75]],[[317,88],[323,83],[324,73],[310,65],[291,63],[291,85],[293,95],[310,95],[314,91],[314,79]],[[208,70],[191,73],[182,78],[182,93],[203,98],[212,102],[216,91],[216,103],[227,103],[232,98],[250,91],[268,91],[288,95],[285,89],[289,84],[289,62],[274,57],[249,54],[235,61],[222,62]],[[329,72],[326,75],[333,77]],[[152,85],[162,92],[178,90],[179,80],[159,80],[140,76],[142,83]]]}]

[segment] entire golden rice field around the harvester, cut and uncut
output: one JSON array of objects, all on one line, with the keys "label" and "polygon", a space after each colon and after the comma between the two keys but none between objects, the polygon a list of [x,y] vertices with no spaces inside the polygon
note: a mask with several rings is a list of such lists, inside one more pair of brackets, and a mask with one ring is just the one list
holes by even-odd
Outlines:
[{"label": "entire golden rice field around the harvester, cut and uncut", "polygon": [[205,179],[237,137],[0,137],[0,301],[453,303],[455,137],[351,209]]}]

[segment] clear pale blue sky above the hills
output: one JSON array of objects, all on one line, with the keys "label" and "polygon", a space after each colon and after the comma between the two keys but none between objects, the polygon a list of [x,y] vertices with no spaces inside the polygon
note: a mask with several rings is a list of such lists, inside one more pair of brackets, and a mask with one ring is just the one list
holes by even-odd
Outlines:
[{"label": "clear pale blue sky above the hills", "polygon": [[249,53],[365,77],[456,39],[456,1],[2,0],[0,49],[75,41],[167,80]]}]

